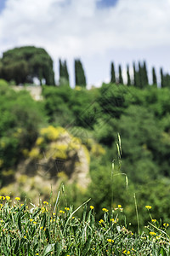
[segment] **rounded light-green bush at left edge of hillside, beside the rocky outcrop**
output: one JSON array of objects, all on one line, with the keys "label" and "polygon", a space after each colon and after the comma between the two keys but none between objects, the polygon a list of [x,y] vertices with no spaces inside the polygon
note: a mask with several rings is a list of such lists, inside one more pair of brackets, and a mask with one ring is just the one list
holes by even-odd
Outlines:
[{"label": "rounded light-green bush at left edge of hillside, beside the rocky outcrop", "polygon": [[0,102],[0,170],[8,170],[20,161],[24,148],[31,148],[45,118],[42,104],[26,91],[0,86]]}]

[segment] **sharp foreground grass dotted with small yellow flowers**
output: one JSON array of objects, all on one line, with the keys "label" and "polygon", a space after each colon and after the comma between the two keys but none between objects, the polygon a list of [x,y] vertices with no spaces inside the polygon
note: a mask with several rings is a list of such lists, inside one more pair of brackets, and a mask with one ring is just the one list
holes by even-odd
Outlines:
[{"label": "sharp foreground grass dotted with small yellow flowers", "polygon": [[[124,221],[123,208],[112,212],[101,209],[103,218],[96,220],[95,209],[85,202],[59,209],[50,201],[34,206],[20,204],[9,196],[0,196],[0,255],[169,255],[168,224],[151,218],[146,231],[133,234]],[[82,208],[82,218],[77,211]]]}]

